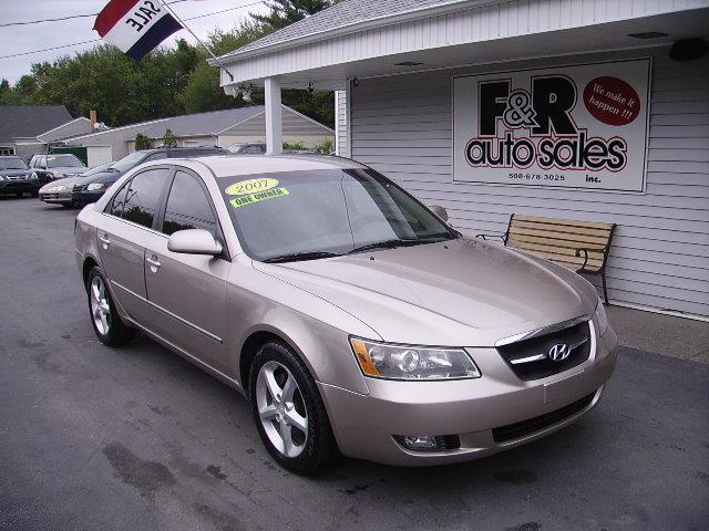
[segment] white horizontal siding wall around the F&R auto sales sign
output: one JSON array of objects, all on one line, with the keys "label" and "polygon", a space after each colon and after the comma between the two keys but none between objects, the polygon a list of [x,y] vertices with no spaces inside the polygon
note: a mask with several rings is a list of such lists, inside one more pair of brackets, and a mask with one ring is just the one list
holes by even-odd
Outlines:
[{"label": "white horizontal siding wall around the F&R auto sales sign", "polygon": [[[469,235],[503,233],[513,212],[618,223],[612,301],[709,316],[709,58],[667,49],[505,63],[502,70],[654,56],[645,194],[453,183],[452,75],[500,65],[363,79],[350,97],[352,158],[445,207]],[[589,278],[598,284],[596,278]]]}]

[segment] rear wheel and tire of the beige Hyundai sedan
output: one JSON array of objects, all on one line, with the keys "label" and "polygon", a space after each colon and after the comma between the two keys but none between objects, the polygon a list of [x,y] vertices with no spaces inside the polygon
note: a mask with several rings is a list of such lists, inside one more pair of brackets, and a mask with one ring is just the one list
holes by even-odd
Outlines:
[{"label": "rear wheel and tire of the beige Hyundai sedan", "polygon": [[121,346],[135,337],[135,329],[121,320],[111,298],[106,278],[97,266],[89,272],[86,294],[91,324],[101,343],[107,346]]}]

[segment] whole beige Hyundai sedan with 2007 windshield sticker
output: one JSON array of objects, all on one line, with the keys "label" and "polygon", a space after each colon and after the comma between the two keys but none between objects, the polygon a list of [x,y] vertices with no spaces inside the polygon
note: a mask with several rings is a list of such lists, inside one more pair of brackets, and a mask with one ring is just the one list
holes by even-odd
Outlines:
[{"label": "whole beige Hyundai sedan with 2007 windshield sticker", "polygon": [[80,212],[76,260],[103,343],[239,389],[286,468],[436,465],[569,425],[616,363],[589,282],[446,217],[348,159],[161,160]]}]

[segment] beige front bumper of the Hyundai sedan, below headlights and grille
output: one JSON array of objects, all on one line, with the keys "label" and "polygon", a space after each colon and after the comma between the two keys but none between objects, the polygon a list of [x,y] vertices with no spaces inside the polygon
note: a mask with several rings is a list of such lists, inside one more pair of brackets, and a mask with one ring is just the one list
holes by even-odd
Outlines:
[{"label": "beige front bumper of the Hyundai sedan, below headlights and grille", "polygon": [[[494,348],[470,348],[481,368],[480,378],[450,382],[367,378],[369,395],[318,385],[346,456],[400,466],[464,461],[544,437],[593,409],[615,368],[617,336],[608,327],[598,337],[594,327],[592,337],[592,353],[586,362],[532,382],[517,378]],[[584,398],[587,402],[580,402]],[[512,438],[501,440],[500,428],[508,430],[511,425],[520,429],[507,431],[513,434]],[[456,435],[460,448],[412,451],[397,442],[394,435]]]}]

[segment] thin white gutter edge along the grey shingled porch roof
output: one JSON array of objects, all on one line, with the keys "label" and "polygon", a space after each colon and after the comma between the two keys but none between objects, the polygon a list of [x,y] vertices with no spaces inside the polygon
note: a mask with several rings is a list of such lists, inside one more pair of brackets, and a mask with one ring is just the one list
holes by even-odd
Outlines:
[{"label": "thin white gutter edge along the grey shingled porch roof", "polygon": [[[492,6],[494,3],[501,3],[502,0],[449,0],[445,3],[439,3],[435,6],[425,6],[423,8],[414,9],[411,11],[403,11],[394,14],[384,14],[374,19],[364,20],[362,22],[352,22],[349,24],[339,25],[330,30],[321,31],[318,33],[309,33],[307,35],[296,37],[279,41],[273,44],[264,44],[244,52],[239,52],[239,49],[234,50],[224,55],[219,55],[219,61],[230,61],[248,59],[253,56],[264,55],[270,52],[277,52],[282,49],[289,49],[295,45],[308,44],[325,39],[331,39],[335,37],[346,35],[348,33],[356,33],[358,31],[369,30],[371,28],[379,28],[383,25],[391,25],[400,22],[408,22],[410,20],[422,19],[428,17],[434,17],[436,14],[443,14],[451,11],[458,11],[466,8],[477,8],[482,6]],[[296,22],[298,23],[298,22]],[[218,66],[218,61],[208,59],[207,62],[212,66]]]}]

